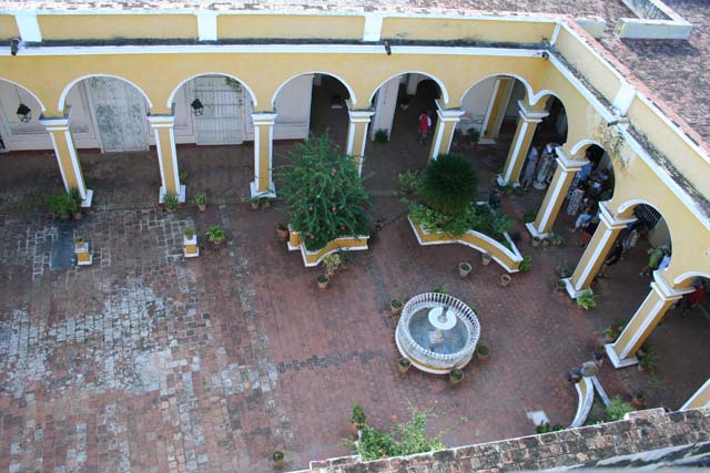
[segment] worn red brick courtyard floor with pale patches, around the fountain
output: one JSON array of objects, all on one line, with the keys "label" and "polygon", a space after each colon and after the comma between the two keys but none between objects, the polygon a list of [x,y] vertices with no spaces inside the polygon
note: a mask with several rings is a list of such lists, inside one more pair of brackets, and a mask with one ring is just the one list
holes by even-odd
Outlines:
[{"label": "worn red brick courtyard floor with pale patches, around the fountain", "polygon": [[[346,111],[333,113],[346,121]],[[316,130],[332,123],[314,116]],[[69,223],[39,204],[61,188],[51,153],[0,156],[9,169],[0,176],[0,469],[262,472],[284,450],[285,470],[298,470],[349,453],[342,440],[352,435],[355,402],[377,426],[406,419],[409,407],[430,409],[430,431],[444,431],[447,445],[532,434],[532,411],[568,425],[577,394],[564,373],[588,360],[604,329],[629,319],[648,294],[650,279],[638,276],[648,245],[597,284],[599,305],[585,311],[555,291],[556,268],[574,268],[581,256],[578,234],[560,217],[566,243],[532,248],[521,218],[544,192],[506,196],[503,209],[532,269],[500,287],[503,269],[483,266],[477,251],[417,244],[396,175],[423,168],[428,146],[416,142],[414,126],[403,128],[388,144],[368,144],[371,249],[355,254],[325,291],[315,285],[321,270],[304,268],[276,240],[286,219],[280,204],[250,209],[247,145],[179,150],[189,193],[210,193],[205,213],[158,208],[151,153],[82,152],[97,197],[92,212]],[[507,147],[504,138],[455,148],[476,163],[483,199]],[[290,148],[275,147],[276,175]],[[210,225],[225,228],[225,245],[203,239],[200,258],[184,259],[183,229]],[[74,234],[90,243],[92,266],[57,263],[57,248]],[[457,273],[463,260],[474,267],[466,279]],[[393,298],[443,285],[475,308],[491,348],[456,387],[398,372],[388,308]],[[710,376],[697,361],[708,357],[708,337],[703,311],[671,310],[650,339],[655,373],[607,362],[599,379],[609,395],[642,390],[649,407],[676,410]]]}]

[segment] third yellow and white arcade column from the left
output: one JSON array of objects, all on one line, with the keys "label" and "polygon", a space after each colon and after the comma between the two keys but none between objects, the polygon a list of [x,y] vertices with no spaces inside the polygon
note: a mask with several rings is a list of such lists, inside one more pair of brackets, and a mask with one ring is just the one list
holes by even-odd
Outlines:
[{"label": "third yellow and white arcade column from the left", "polygon": [[276,197],[273,178],[274,122],[276,112],[254,112],[254,182],[252,197]]}]

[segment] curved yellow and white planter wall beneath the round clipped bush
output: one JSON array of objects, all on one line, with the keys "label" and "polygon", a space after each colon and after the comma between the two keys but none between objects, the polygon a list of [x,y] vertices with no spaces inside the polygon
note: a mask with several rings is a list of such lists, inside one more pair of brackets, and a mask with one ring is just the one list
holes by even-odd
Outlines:
[{"label": "curved yellow and white planter wall beneath the round clipped bush", "polygon": [[427,232],[420,225],[412,222],[412,218],[407,217],[409,225],[416,235],[419,245],[446,245],[457,243],[460,245],[469,246],[481,253],[489,253],[493,259],[500,265],[508,273],[518,273],[520,263],[523,263],[523,255],[518,251],[510,236],[506,233],[506,240],[510,244],[513,250],[506,248],[503,244],[496,241],[491,237],[478,232],[468,230],[464,235],[454,237],[445,234],[444,232]]}]

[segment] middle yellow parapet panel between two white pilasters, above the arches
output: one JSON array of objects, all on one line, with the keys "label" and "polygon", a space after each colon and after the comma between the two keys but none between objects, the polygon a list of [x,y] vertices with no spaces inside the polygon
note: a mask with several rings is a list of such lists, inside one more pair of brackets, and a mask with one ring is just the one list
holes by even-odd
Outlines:
[{"label": "middle yellow parapet panel between two white pilasters, above the arches", "polygon": [[363,17],[328,17],[314,14],[220,14],[220,38],[320,38],[359,40],[363,38]]}]

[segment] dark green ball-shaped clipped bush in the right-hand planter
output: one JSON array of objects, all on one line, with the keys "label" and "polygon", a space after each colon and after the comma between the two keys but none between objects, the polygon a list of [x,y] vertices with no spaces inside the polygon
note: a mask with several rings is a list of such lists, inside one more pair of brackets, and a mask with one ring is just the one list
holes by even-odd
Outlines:
[{"label": "dark green ball-shaped clipped bush in the right-hand planter", "polygon": [[429,207],[454,215],[478,197],[478,176],[470,161],[459,154],[442,154],[424,171],[419,197]]}]

